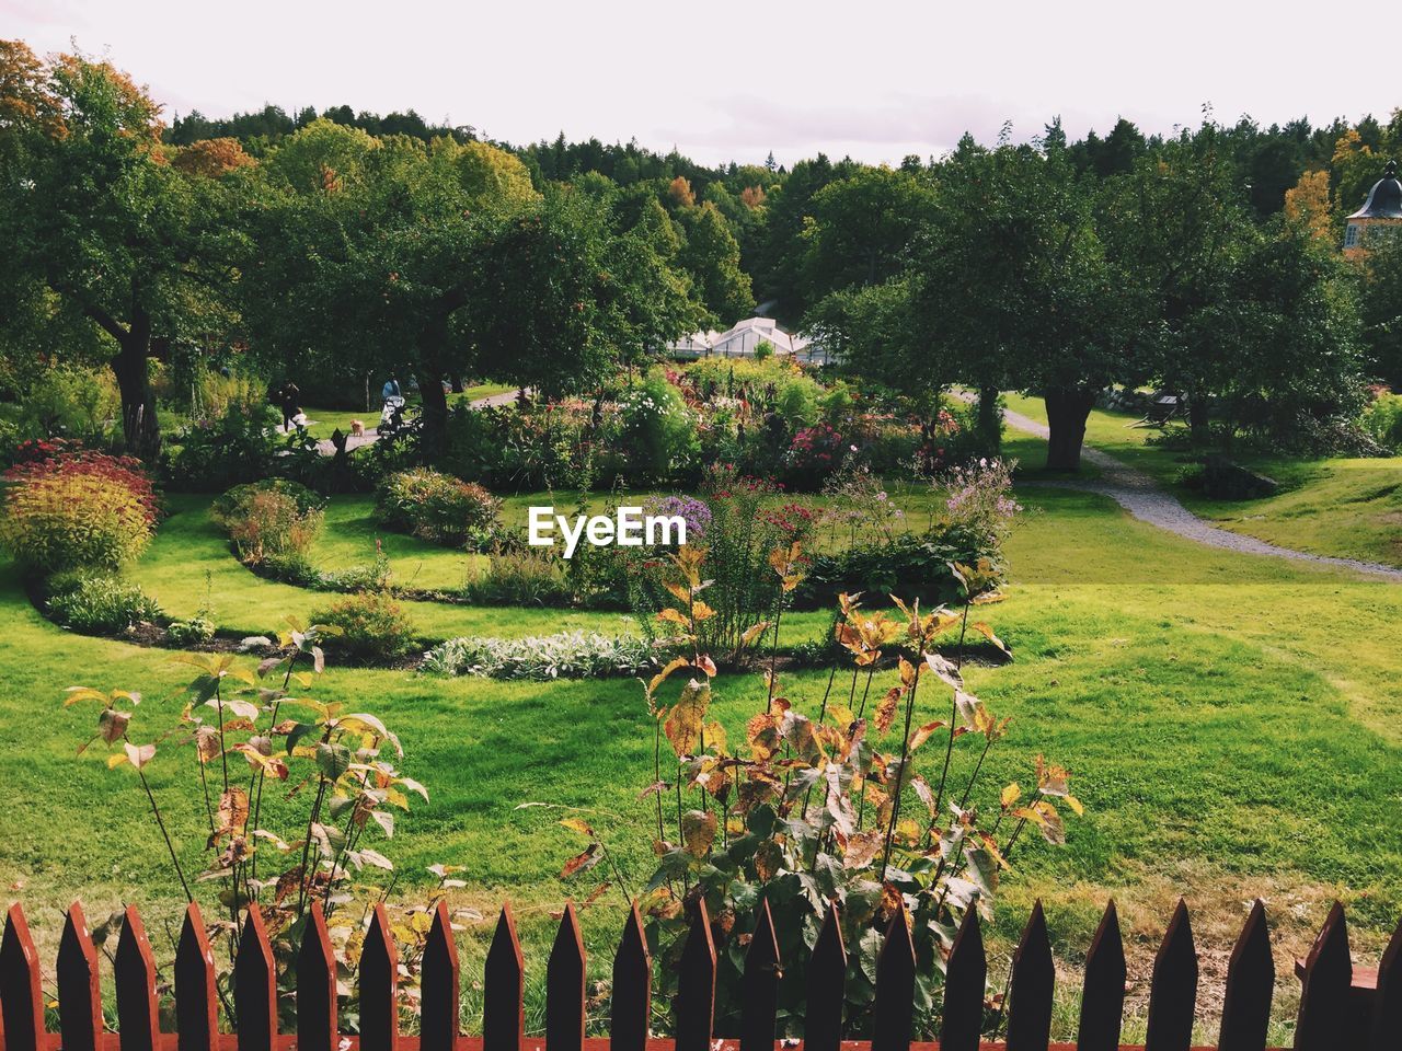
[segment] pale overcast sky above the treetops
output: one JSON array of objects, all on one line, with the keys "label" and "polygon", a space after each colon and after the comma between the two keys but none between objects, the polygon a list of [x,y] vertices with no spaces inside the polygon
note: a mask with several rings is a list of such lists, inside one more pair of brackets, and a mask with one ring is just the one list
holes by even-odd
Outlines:
[{"label": "pale overcast sky above the treetops", "polygon": [[0,0],[0,36],[109,57],[167,119],[348,104],[517,144],[564,130],[708,164],[897,163],[1057,114],[1073,139],[1120,115],[1172,132],[1204,104],[1224,122],[1385,118],[1398,63],[1347,17],[1300,0]]}]

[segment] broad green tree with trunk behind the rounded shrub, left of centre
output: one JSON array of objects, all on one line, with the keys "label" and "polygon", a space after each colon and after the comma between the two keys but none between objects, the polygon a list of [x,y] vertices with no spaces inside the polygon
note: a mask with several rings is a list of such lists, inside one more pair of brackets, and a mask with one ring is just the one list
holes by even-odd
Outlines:
[{"label": "broad green tree with trunk behind the rounded shrub, left of centre", "polygon": [[[464,191],[453,157],[324,121],[289,137],[266,168],[243,268],[254,353],[276,367],[414,376],[425,453],[440,453],[442,381],[471,370],[458,315],[472,301],[494,202]],[[321,178],[289,178],[313,171]]]}]

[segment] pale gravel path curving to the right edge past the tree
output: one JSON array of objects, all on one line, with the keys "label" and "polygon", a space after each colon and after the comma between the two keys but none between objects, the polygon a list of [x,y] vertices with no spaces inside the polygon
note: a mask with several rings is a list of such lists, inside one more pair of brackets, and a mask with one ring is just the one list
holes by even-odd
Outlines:
[{"label": "pale gravel path curving to the right edge past the tree", "polygon": [[[1036,434],[1043,439],[1047,437],[1047,427],[1044,423],[1037,423],[1035,419],[1023,416],[1022,413],[1008,411],[1004,411],[1002,418],[1008,422],[1008,426],[1015,427],[1016,430],[1026,432],[1028,434]],[[1213,526],[1199,518],[1182,503],[1179,503],[1175,496],[1161,489],[1158,482],[1155,482],[1150,475],[1129,467],[1127,464],[1112,457],[1109,453],[1087,446],[1081,455],[1101,468],[1105,476],[1098,481],[1049,481],[1042,482],[1042,485],[1059,486],[1064,489],[1088,489],[1091,492],[1103,493],[1140,521],[1147,521],[1151,526],[1158,526],[1159,528],[1175,533],[1179,537],[1185,537],[1186,540],[1196,541],[1197,544],[1206,544],[1213,548],[1239,551],[1245,555],[1270,555],[1273,558],[1295,559],[1297,562],[1316,562],[1326,566],[1352,569],[1359,573],[1370,573],[1373,576],[1402,583],[1402,569],[1396,569],[1395,566],[1387,566],[1381,562],[1363,562],[1353,558],[1311,555],[1308,551],[1281,548],[1274,544],[1267,544],[1263,540],[1256,540],[1255,537],[1246,537],[1241,533],[1232,533],[1231,530],[1224,530],[1220,526]]]}]

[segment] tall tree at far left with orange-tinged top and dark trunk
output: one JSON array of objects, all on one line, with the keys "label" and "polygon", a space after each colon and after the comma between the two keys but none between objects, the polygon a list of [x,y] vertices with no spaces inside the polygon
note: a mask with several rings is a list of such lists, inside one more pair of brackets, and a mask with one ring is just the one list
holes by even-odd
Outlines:
[{"label": "tall tree at far left with orange-tinged top and dark trunk", "polygon": [[233,231],[222,184],[185,178],[160,146],[158,107],[109,63],[3,56],[14,115],[0,150],[0,327],[95,329],[122,394],[126,447],[160,448],[149,359],[229,324]]}]

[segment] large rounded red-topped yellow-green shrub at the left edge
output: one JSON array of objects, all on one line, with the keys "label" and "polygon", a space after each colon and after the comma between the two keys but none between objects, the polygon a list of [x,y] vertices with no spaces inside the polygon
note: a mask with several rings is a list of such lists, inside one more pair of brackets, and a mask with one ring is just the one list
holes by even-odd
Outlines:
[{"label": "large rounded red-topped yellow-green shrub at the left edge", "polygon": [[140,462],[27,441],[4,472],[0,545],[29,569],[116,569],[142,554],[156,526],[156,493]]}]

